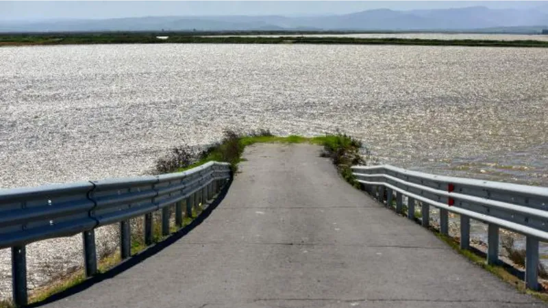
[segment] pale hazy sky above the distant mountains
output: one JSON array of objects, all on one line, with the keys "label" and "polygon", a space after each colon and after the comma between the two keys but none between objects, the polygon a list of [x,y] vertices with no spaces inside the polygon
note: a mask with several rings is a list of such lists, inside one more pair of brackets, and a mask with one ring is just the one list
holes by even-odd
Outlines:
[{"label": "pale hazy sky above the distant mountains", "polygon": [[0,0],[0,21],[165,15],[337,14],[485,5],[534,8],[547,0]]}]

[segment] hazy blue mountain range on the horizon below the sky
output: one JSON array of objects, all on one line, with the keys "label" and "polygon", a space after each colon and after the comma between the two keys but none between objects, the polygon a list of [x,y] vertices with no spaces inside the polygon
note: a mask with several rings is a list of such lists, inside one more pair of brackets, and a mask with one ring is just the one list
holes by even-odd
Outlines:
[{"label": "hazy blue mountain range on the horizon below the sky", "polygon": [[[0,31],[279,31],[295,29],[410,31],[548,27],[548,5],[531,10],[483,6],[446,10],[368,10],[330,16],[160,16],[39,23],[1,22]],[[539,30],[536,30],[539,31]]]}]

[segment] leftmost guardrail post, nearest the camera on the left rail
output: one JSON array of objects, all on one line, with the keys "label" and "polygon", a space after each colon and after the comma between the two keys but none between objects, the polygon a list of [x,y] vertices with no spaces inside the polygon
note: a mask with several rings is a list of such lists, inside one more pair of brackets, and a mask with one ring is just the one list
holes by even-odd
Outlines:
[{"label": "leftmost guardrail post, nearest the camera on the left rail", "polygon": [[12,247],[12,296],[15,305],[27,305],[27,248],[25,246]]}]

